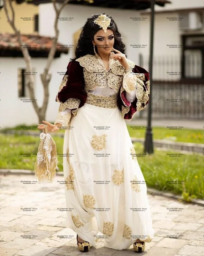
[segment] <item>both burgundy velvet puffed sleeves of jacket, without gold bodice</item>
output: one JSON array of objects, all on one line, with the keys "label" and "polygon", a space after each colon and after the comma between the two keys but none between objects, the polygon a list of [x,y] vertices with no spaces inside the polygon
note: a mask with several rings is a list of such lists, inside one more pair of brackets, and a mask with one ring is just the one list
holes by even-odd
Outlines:
[{"label": "both burgundy velvet puffed sleeves of jacket, without gold bodice", "polygon": [[[123,82],[124,86],[121,86],[118,93],[118,107],[120,111],[122,111],[124,119],[127,121],[131,121],[133,115],[137,111],[145,108],[149,102],[150,93],[149,73],[144,68],[137,65],[134,65],[131,72],[129,73],[129,76],[124,73],[126,82]],[[68,63],[63,81],[64,82],[61,83],[61,88],[56,96],[56,101],[64,103],[68,99],[74,98],[80,100],[78,107],[82,107],[86,102],[87,93],[85,92],[83,66],[80,65],[80,62],[70,61]],[[126,87],[128,88],[128,84],[131,84],[130,81],[135,83],[137,88],[136,99],[133,102],[129,102],[126,98],[126,91],[128,91]]]}]

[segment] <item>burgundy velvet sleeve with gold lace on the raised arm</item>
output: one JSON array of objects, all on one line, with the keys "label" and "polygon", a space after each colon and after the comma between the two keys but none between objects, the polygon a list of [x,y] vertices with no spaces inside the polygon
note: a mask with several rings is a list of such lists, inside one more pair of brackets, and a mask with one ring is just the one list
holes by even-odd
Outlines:
[{"label": "burgundy velvet sleeve with gold lace on the raised arm", "polygon": [[[149,103],[150,83],[149,72],[144,68],[135,65],[133,69],[125,70],[123,76],[123,83],[120,88],[120,109],[122,111],[123,118],[127,121],[131,121],[133,115],[145,109]],[[133,101],[129,99],[133,97]]]}]

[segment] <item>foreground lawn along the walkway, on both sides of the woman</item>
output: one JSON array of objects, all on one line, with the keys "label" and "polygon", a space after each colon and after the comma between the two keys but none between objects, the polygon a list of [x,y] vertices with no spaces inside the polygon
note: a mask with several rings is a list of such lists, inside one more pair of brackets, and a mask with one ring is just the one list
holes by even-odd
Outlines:
[{"label": "foreground lawn along the walkway, on both sides of the woman", "polygon": [[[63,154],[63,138],[53,138],[58,150],[59,171],[63,171],[63,158],[60,157]],[[0,139],[0,168],[34,170],[39,137],[0,134]],[[178,195],[185,191],[189,196],[204,198],[203,156],[183,154],[181,157],[170,157],[167,154],[174,151],[154,150],[154,154],[139,157],[143,153],[140,143],[135,143],[135,150],[148,187]],[[167,182],[173,180],[181,183]]]}]

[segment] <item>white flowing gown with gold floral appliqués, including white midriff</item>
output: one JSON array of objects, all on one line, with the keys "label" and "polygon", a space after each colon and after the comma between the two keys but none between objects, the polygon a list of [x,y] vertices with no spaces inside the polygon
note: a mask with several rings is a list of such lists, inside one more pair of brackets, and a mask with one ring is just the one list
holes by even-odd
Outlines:
[{"label": "white flowing gown with gold floral appliqu\u00e9s, including white midriff", "polygon": [[[109,86],[88,92],[117,94]],[[126,92],[129,102],[135,95],[136,90]],[[154,231],[146,183],[119,108],[85,103],[69,125],[63,146],[68,227],[94,247],[101,238],[105,247],[117,250],[136,239],[150,242]]]}]

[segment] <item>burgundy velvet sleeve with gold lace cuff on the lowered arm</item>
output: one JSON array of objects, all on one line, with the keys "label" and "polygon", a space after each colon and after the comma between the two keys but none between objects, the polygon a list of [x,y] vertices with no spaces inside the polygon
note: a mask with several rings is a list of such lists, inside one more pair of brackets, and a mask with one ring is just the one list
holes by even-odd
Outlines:
[{"label": "burgundy velvet sleeve with gold lace cuff on the lowered arm", "polygon": [[72,116],[76,115],[78,108],[86,102],[84,86],[82,66],[77,61],[70,61],[56,95],[55,101],[60,102],[60,105],[54,125],[60,123],[61,129],[68,129]]}]

